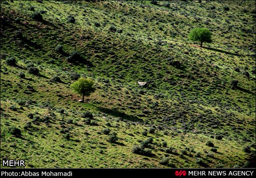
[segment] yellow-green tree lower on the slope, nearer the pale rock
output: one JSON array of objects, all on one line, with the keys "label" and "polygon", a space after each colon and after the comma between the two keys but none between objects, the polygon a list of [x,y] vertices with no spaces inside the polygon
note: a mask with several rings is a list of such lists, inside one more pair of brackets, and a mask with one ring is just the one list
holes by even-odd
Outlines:
[{"label": "yellow-green tree lower on the slope, nearer the pale rock", "polygon": [[74,92],[77,92],[83,96],[82,102],[84,102],[84,96],[90,96],[91,93],[95,92],[93,85],[93,80],[81,77],[71,84],[71,88],[74,90]]}]

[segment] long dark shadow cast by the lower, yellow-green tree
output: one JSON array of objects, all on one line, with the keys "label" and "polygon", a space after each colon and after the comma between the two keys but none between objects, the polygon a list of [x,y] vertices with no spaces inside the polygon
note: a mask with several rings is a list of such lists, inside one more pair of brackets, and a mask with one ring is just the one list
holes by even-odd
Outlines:
[{"label": "long dark shadow cast by the lower, yellow-green tree", "polygon": [[[92,105],[92,104],[89,104],[89,105]],[[139,119],[136,116],[128,115],[128,114],[126,114],[124,112],[120,112],[116,109],[108,109],[108,108],[100,107],[100,106],[96,106],[96,105],[93,105],[93,106],[96,107],[98,111],[104,112],[104,113],[106,113],[108,115],[111,115],[111,116],[114,116],[116,118],[121,117],[122,119],[126,119],[126,120],[129,120],[129,121],[134,121],[134,122],[142,122],[143,121],[142,119]]]}]

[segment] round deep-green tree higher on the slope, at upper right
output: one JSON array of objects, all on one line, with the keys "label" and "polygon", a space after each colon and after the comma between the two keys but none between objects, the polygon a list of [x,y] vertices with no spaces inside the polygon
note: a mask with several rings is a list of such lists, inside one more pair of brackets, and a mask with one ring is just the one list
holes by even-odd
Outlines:
[{"label": "round deep-green tree higher on the slope, at upper right", "polygon": [[199,41],[201,42],[201,47],[203,42],[211,43],[212,33],[209,31],[208,28],[194,28],[190,33],[189,33],[189,40],[192,41]]}]

